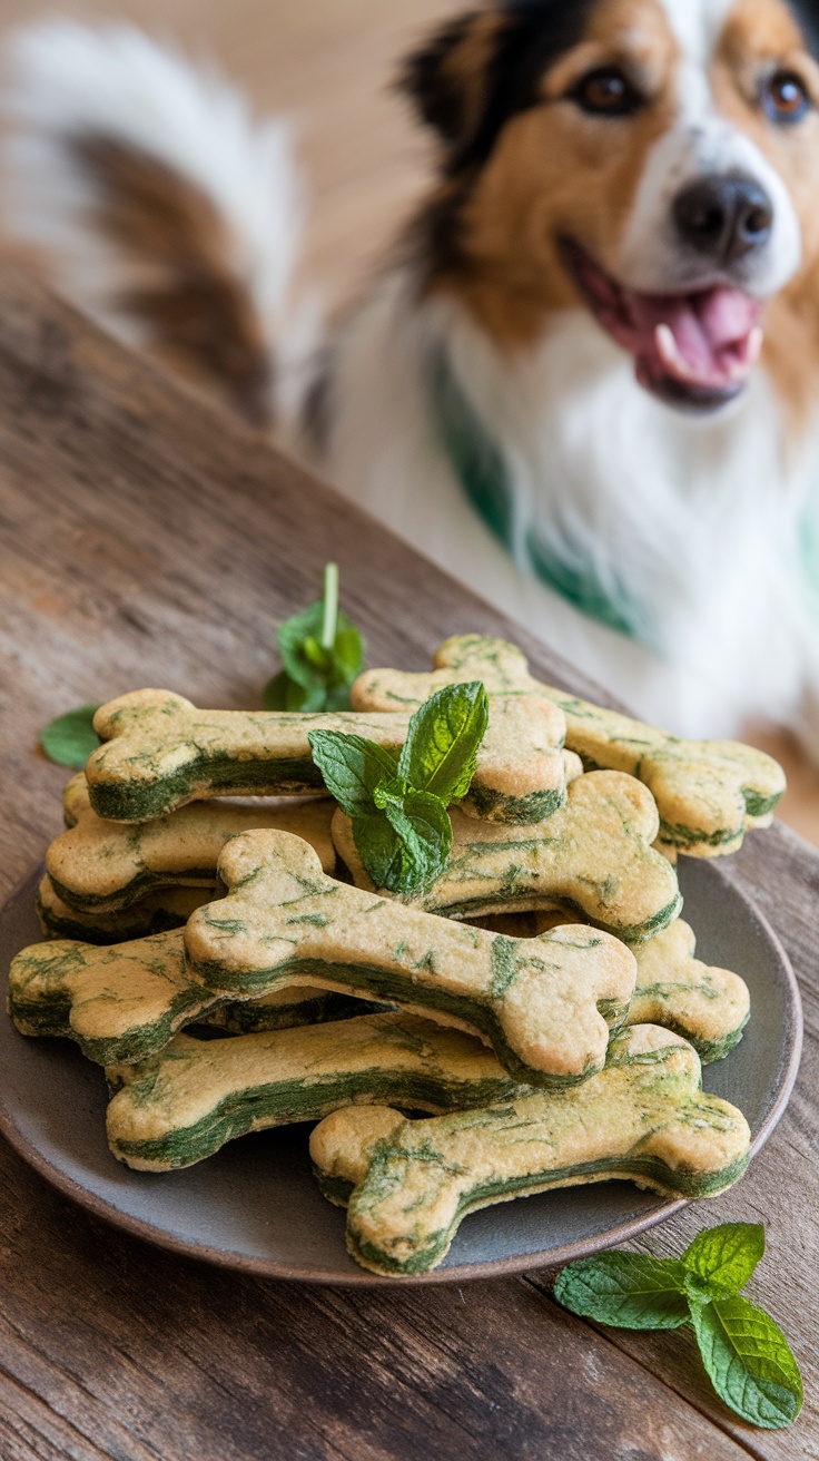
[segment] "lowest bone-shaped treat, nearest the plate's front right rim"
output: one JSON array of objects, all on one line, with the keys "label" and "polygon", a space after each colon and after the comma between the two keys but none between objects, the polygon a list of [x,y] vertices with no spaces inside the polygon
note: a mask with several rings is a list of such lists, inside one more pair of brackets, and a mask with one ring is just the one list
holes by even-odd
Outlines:
[{"label": "lowest bone-shaped treat, nearest the plate's front right rim", "polygon": [[612,1178],[712,1197],[742,1176],[749,1145],[742,1112],[699,1090],[696,1052],[638,1026],[572,1090],[431,1121],[349,1106],[314,1129],[309,1150],[326,1197],[349,1204],[352,1256],[374,1273],[418,1274],[479,1207]]}]

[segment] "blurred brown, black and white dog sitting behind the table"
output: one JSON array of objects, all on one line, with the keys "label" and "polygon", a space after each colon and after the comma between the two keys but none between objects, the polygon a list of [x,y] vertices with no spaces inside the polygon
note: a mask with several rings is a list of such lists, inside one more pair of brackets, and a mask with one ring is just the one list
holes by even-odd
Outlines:
[{"label": "blurred brown, black and white dog sitting behind the table", "polygon": [[437,175],[320,346],[285,121],[128,28],[15,64],[10,228],[69,294],[645,719],[819,761],[819,0],[442,23]]}]

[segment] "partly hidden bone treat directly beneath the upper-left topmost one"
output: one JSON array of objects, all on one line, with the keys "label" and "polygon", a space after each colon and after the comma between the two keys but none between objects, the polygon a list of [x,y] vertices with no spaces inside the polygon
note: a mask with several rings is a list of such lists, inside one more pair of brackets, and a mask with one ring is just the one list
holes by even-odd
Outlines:
[{"label": "partly hidden bone treat directly beneath the upper-left topmost one", "polygon": [[69,907],[112,913],[162,887],[213,888],[222,847],[250,827],[304,837],[315,847],[324,871],[333,872],[331,815],[333,802],[327,799],[285,806],[197,802],[131,827],[96,815],[80,773],[66,790],[72,825],[51,843],[45,866],[55,894]]}]

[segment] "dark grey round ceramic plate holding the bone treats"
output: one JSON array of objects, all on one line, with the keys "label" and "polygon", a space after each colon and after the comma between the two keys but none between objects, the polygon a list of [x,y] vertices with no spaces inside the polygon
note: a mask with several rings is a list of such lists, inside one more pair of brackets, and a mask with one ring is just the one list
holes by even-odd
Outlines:
[{"label": "dark grey round ceramic plate holding the bone treats", "polygon": [[[42,935],[34,912],[41,869],[0,913],[0,967]],[[780,1121],[801,1049],[797,985],[775,934],[717,863],[683,859],[685,913],[698,955],[746,979],[752,1020],[704,1086],[740,1106],[753,1150]],[[307,1126],[257,1132],[184,1172],[130,1172],[105,1143],[105,1080],[67,1040],[32,1040],[0,1017],[0,1126],[69,1197],[118,1227],[209,1262],[334,1284],[463,1283],[569,1262],[619,1243],[680,1208],[629,1182],[543,1192],[467,1217],[441,1268],[412,1280],[365,1273],[345,1249],[345,1214],[311,1175]]]}]

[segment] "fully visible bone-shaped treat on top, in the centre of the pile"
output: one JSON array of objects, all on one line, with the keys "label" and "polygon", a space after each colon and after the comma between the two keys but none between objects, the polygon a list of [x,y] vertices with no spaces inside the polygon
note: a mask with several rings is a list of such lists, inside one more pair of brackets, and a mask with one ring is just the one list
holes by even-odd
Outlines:
[{"label": "fully visible bone-shaped treat on top, in the centre of the pile", "polygon": [[[480,824],[474,824],[480,825]],[[228,896],[185,929],[194,974],[244,996],[293,974],[477,1033],[531,1086],[584,1080],[634,993],[634,954],[596,929],[507,939],[334,882],[307,843],[245,833],[219,859]]]}]

